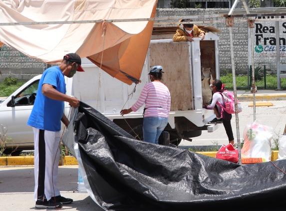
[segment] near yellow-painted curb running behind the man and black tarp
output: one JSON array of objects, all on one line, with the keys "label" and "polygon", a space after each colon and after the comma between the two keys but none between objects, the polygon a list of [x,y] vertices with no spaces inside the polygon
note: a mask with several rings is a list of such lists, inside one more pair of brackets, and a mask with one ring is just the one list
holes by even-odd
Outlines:
[{"label": "near yellow-painted curb running behind the man and black tarp", "polygon": [[[196,152],[209,157],[216,157],[217,152]],[[73,156],[64,156],[63,165],[61,162],[59,166],[71,166],[78,165],[77,160]],[[278,151],[272,151],[271,161],[276,161],[278,159]],[[10,156],[10,157],[0,157],[0,166],[28,166],[34,165],[34,156]]]}]

